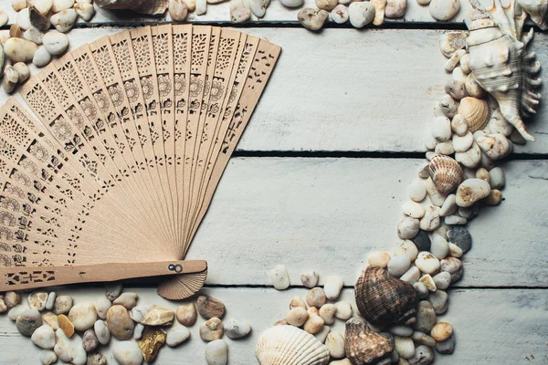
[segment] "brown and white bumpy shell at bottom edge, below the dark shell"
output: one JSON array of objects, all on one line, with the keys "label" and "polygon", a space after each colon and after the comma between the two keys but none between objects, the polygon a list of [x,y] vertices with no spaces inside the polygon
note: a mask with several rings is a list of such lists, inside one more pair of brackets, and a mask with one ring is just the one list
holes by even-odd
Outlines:
[{"label": "brown and white bumpy shell at bottom edge, below the dark shell", "polygon": [[353,365],[363,365],[387,358],[394,350],[394,345],[358,319],[351,318],[346,321],[344,350]]}]

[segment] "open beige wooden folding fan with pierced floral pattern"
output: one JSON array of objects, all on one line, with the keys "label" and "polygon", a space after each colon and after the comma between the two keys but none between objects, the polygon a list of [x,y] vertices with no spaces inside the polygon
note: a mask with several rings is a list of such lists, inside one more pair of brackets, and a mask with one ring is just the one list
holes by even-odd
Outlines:
[{"label": "open beige wooden folding fan with pierced floral pattern", "polygon": [[279,57],[212,26],[153,26],[80,47],[0,110],[0,291],[173,276]]}]

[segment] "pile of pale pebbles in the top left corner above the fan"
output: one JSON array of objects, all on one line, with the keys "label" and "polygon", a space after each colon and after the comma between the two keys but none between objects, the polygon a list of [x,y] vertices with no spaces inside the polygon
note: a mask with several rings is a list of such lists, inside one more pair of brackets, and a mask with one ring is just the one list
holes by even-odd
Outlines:
[{"label": "pile of pale pebbles in the top left corner above the fan", "polygon": [[[12,0],[16,22],[0,34],[0,77],[7,93],[30,76],[26,64],[45,67],[52,57],[68,48],[65,35],[79,17],[90,21],[95,14],[92,0]],[[0,9],[0,26],[8,22]]]}]

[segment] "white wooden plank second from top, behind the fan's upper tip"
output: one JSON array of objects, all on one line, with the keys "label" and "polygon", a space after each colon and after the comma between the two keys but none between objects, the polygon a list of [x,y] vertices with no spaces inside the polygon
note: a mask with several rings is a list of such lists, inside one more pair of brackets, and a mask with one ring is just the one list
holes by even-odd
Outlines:
[{"label": "white wooden plank second from top, behind the fan's upper tip", "polygon": [[[74,30],[71,49],[118,31]],[[279,44],[282,54],[240,151],[425,151],[431,110],[449,78],[437,46],[442,32],[245,31]],[[548,34],[537,35],[534,50],[548,69]],[[548,88],[543,97],[548,100]],[[5,98],[0,91],[0,103]],[[545,104],[528,123],[537,141],[516,146],[516,152],[548,153]]]}]

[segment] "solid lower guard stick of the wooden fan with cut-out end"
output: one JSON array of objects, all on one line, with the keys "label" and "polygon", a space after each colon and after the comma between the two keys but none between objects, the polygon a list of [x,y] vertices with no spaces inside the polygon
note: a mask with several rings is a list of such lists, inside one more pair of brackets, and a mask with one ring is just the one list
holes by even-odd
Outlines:
[{"label": "solid lower guard stick of the wooden fan with cut-out end", "polygon": [[174,276],[207,269],[204,260],[78,266],[0,267],[0,292],[134,277]]}]

